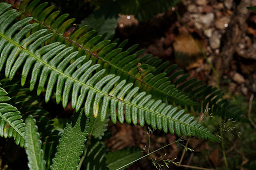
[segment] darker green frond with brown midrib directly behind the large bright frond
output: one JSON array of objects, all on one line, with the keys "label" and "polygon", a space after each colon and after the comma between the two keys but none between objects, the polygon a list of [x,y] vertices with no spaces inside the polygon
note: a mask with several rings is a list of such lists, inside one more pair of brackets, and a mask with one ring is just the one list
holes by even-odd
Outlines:
[{"label": "darker green frond with brown midrib directly behind the large bright frond", "polygon": [[[157,60],[158,57],[148,59],[150,55],[144,55],[141,58],[137,58],[143,53],[142,50],[134,52],[134,54],[131,53],[137,48],[137,44],[129,47],[126,51],[122,51],[122,47],[127,41],[124,41],[115,48],[117,45],[116,41],[110,42],[110,40],[103,40],[104,36],[97,35],[95,30],[87,30],[86,25],[76,29],[71,25],[74,19],[64,21],[68,14],[57,17],[59,11],[49,14],[53,6],[44,9],[46,3],[42,3],[36,7],[37,1],[29,2],[30,0],[23,0],[22,2],[13,2],[13,4],[15,8],[23,12],[22,17],[33,16],[32,21],[40,24],[39,26],[36,25],[33,27],[30,33],[34,33],[39,28],[47,28],[45,33],[54,34],[45,44],[60,41],[67,46],[74,47],[72,51],[79,51],[76,58],[83,55],[89,56],[92,60],[92,64],[101,64],[97,70],[106,68],[105,75],[120,75],[122,79],[133,82],[134,87],[140,86],[140,91],[152,93],[154,99],[167,99],[169,103],[175,102],[182,106],[198,104],[190,100],[187,95],[184,95],[182,91],[177,90],[170,84],[170,80],[166,77],[168,75],[167,71],[170,69],[167,68],[165,72],[159,74],[169,62],[164,62],[160,67],[155,68],[158,66],[157,63],[159,63],[159,60]],[[53,19],[55,19],[55,21],[53,21]],[[89,60],[89,57],[86,58],[86,61]],[[146,61],[145,64],[137,66],[138,63],[141,63],[146,58],[148,61]],[[155,58],[157,61],[155,61]]]}]

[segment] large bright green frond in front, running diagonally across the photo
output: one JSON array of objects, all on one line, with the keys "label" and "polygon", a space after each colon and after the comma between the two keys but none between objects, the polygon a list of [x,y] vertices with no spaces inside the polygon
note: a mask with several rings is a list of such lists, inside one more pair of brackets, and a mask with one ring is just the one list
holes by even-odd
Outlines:
[{"label": "large bright green frond in front, running diagonally across the photo", "polygon": [[[40,94],[46,85],[46,101],[56,83],[57,103],[62,96],[62,105],[65,107],[71,91],[72,107],[79,110],[84,101],[85,115],[89,115],[92,105],[94,116],[98,116],[100,112],[101,121],[106,118],[107,108],[110,106],[110,117],[114,123],[117,113],[121,123],[124,116],[128,123],[132,121],[134,124],[137,124],[138,118],[142,126],[146,121],[153,128],[163,129],[164,132],[169,130],[177,135],[182,133],[219,141],[207,128],[193,120],[193,116],[183,114],[184,110],[177,111],[176,107],[152,99],[151,94],[138,92],[139,87],[132,87],[133,83],[118,81],[120,76],[104,76],[105,69],[97,70],[100,64],[91,65],[93,61],[87,61],[85,55],[76,58],[79,51],[73,51],[73,47],[64,48],[65,45],[60,42],[41,47],[40,45],[53,36],[52,33],[44,35],[46,29],[39,29],[25,37],[24,35],[38,24],[27,24],[31,17],[11,24],[21,12],[16,12],[16,9],[6,10],[8,7],[9,4],[0,3],[0,69],[5,68],[5,76],[9,79],[13,78],[23,64],[21,84],[24,84],[27,76],[31,74],[30,90],[38,81],[37,94]],[[32,70],[31,73],[29,70]]]}]

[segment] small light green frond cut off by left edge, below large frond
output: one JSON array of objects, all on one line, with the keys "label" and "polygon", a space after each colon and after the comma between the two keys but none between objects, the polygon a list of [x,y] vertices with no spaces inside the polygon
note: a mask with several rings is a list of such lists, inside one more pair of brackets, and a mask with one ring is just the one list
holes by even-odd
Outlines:
[{"label": "small light green frond cut off by left edge, below large frond", "polygon": [[25,123],[23,123],[17,108],[5,103],[10,99],[5,96],[6,94],[7,92],[0,87],[0,136],[14,137],[16,144],[23,147]]}]

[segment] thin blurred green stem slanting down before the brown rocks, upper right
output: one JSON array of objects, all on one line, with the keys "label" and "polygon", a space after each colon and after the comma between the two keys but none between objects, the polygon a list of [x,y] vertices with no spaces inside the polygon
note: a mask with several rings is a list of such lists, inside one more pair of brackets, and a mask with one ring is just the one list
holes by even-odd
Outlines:
[{"label": "thin blurred green stem slanting down before the brown rocks, upper right", "polygon": [[[184,22],[184,20],[182,19],[182,17],[180,16],[179,12],[177,11],[177,9],[175,9],[175,13],[178,16],[178,18],[180,19],[181,23],[183,24],[183,26],[185,27],[185,29],[187,30],[187,32],[191,35],[189,29],[187,28],[186,23]],[[209,61],[207,55],[205,54],[205,52],[203,51],[201,45],[198,43],[198,41],[191,35],[191,37],[193,38],[195,44],[198,46],[198,48],[200,49],[200,52],[202,53],[203,57],[205,58],[205,60],[207,61],[207,63],[210,65],[210,68],[212,69],[213,73],[216,76],[216,83],[217,83],[217,87],[219,88],[219,80],[218,80],[218,73],[215,70],[214,66],[212,65],[212,63]]]}]

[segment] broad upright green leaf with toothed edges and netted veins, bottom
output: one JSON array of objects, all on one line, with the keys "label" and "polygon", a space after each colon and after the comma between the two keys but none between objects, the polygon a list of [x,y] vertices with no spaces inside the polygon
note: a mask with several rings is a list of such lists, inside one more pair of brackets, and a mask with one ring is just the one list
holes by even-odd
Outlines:
[{"label": "broad upright green leaf with toothed edges and netted veins, bottom", "polygon": [[89,119],[83,110],[76,112],[71,122],[64,128],[64,133],[59,139],[57,152],[52,159],[51,169],[76,169],[82,154],[84,142],[88,135]]}]

